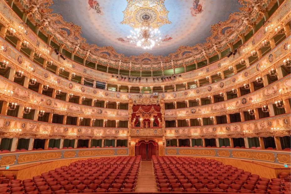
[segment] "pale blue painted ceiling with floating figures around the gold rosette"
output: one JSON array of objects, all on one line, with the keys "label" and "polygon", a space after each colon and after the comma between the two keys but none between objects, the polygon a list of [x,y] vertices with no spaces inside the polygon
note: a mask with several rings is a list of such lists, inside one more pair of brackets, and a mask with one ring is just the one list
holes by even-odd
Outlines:
[{"label": "pale blue painted ceiling with floating figures around the gold rosette", "polygon": [[80,26],[81,36],[89,44],[112,46],[125,56],[145,52],[167,56],[180,46],[205,43],[211,35],[211,25],[227,20],[242,6],[237,0],[165,0],[169,23],[159,28],[162,41],[151,50],[144,50],[127,38],[132,30],[122,24],[127,4],[126,0],[54,0],[50,8],[66,22]]}]

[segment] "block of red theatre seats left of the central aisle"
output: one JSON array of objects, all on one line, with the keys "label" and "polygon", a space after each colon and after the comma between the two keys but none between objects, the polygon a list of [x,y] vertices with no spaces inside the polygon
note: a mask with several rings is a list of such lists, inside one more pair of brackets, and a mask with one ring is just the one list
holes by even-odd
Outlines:
[{"label": "block of red theatre seats left of the central aisle", "polygon": [[13,176],[8,180],[6,176],[0,179],[0,193],[132,192],[140,161],[140,156],[79,160],[32,179],[13,180]]}]

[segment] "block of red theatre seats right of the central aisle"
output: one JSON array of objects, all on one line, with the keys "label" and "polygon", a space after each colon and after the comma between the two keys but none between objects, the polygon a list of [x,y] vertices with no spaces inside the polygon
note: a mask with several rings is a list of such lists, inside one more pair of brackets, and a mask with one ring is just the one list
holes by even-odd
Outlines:
[{"label": "block of red theatre seats right of the central aisle", "polygon": [[153,156],[153,167],[159,191],[189,192],[290,192],[290,182],[263,178],[214,159]]}]

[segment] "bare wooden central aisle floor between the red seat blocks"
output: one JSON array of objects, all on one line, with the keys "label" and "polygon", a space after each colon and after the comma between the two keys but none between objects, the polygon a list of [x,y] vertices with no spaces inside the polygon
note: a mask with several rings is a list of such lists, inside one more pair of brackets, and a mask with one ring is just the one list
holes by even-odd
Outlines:
[{"label": "bare wooden central aisle floor between the red seat blocks", "polygon": [[156,192],[156,178],[151,161],[141,161],[140,173],[138,176],[137,192]]}]

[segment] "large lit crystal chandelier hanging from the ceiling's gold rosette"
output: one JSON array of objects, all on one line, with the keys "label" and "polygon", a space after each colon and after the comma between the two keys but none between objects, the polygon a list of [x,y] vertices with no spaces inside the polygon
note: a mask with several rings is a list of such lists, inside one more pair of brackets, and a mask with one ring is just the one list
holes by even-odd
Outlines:
[{"label": "large lit crystal chandelier hanging from the ceiling's gold rosette", "polygon": [[162,34],[158,28],[151,28],[150,24],[145,22],[140,28],[130,30],[130,43],[136,44],[143,49],[152,49],[155,45],[160,45]]}]

